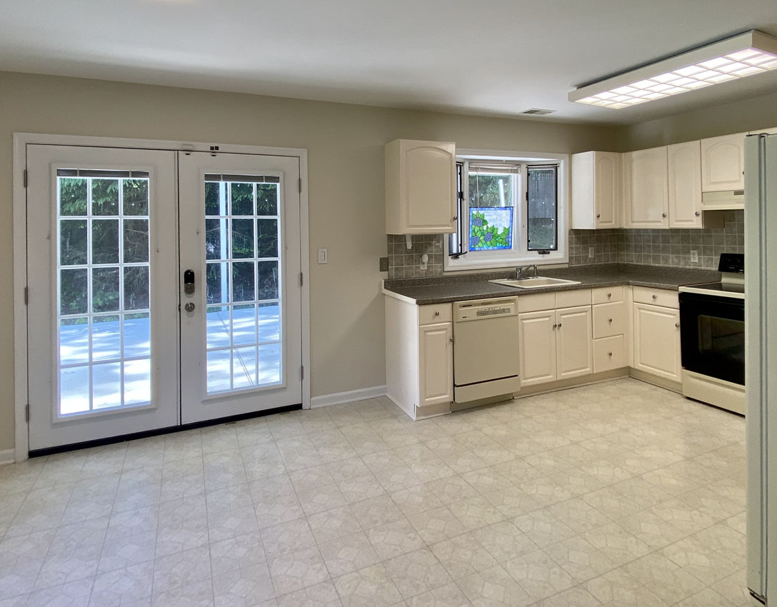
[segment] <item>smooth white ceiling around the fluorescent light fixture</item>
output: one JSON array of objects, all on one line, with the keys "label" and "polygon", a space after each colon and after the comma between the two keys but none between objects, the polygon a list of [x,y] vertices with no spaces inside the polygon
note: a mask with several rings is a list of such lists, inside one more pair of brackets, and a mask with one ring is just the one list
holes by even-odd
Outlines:
[{"label": "smooth white ceiling around the fluorescent light fixture", "polygon": [[777,2],[0,0],[0,70],[629,124],[777,92],[777,73],[622,110],[566,95],[751,29],[777,36]]}]

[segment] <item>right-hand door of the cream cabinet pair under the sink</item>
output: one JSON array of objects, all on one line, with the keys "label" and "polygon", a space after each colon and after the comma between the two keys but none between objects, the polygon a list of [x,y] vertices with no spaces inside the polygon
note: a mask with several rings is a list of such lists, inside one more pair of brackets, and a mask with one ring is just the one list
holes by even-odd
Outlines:
[{"label": "right-hand door of the cream cabinet pair under the sink", "polygon": [[556,310],[556,325],[557,379],[593,373],[591,306]]}]

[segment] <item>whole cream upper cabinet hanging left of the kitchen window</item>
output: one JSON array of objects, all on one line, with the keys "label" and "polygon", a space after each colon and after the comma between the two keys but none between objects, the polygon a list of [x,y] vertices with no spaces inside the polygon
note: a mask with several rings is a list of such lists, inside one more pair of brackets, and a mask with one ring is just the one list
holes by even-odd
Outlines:
[{"label": "whole cream upper cabinet hanging left of the kitchen window", "polygon": [[386,233],[456,229],[456,145],[397,139],[385,145]]}]

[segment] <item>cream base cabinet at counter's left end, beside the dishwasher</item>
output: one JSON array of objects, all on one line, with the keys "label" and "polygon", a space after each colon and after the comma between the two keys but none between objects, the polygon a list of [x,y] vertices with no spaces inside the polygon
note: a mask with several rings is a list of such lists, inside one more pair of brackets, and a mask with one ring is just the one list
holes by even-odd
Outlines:
[{"label": "cream base cabinet at counter's left end, beside the dishwasher", "polygon": [[385,298],[386,392],[414,420],[451,410],[453,308]]}]

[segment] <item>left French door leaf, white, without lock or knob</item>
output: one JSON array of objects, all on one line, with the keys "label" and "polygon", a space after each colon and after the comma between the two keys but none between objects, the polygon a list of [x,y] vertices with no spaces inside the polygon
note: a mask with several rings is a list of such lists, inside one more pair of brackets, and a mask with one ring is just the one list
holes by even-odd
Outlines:
[{"label": "left French door leaf, white, without lock or knob", "polygon": [[31,451],[178,423],[175,164],[27,146]]}]

